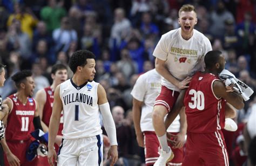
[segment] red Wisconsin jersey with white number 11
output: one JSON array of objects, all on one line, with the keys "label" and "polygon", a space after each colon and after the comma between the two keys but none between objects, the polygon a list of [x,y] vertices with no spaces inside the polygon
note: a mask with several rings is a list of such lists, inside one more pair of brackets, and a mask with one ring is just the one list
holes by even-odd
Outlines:
[{"label": "red Wisconsin jersey with white number 11", "polygon": [[25,105],[15,94],[8,96],[12,101],[12,109],[8,115],[7,127],[5,130],[6,141],[29,140],[30,133],[35,130],[33,118],[36,111],[36,102],[33,98],[28,98]]}]

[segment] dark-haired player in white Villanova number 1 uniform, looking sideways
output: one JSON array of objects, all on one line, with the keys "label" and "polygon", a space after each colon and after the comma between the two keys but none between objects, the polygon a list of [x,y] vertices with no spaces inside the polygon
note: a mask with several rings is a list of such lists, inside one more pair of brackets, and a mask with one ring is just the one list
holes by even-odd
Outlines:
[{"label": "dark-haired player in white Villanova number 1 uniform, looking sideways", "polygon": [[[48,161],[51,165],[53,159],[58,165],[103,165],[100,113],[111,144],[108,153],[108,158],[112,158],[111,165],[118,159],[116,126],[105,89],[93,81],[95,65],[95,55],[92,52],[76,51],[69,60],[69,67],[74,73],[73,78],[55,89],[48,143]],[[53,145],[62,110],[63,140],[57,160]]]}]

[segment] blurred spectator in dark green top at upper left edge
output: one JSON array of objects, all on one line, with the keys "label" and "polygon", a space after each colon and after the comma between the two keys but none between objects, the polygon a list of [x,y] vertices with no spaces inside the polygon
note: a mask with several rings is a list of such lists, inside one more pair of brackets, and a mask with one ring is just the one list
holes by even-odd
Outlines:
[{"label": "blurred spectator in dark green top at upper left edge", "polygon": [[60,27],[60,20],[62,17],[66,16],[66,10],[63,8],[63,1],[49,0],[48,6],[45,6],[40,11],[40,16],[42,20],[47,25],[48,32]]}]

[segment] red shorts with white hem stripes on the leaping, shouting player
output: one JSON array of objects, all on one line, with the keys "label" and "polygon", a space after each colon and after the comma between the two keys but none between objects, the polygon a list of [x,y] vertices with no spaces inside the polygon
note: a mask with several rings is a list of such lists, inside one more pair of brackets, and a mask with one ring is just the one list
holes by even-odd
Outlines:
[{"label": "red shorts with white hem stripes on the leaping, shouting player", "polygon": [[170,112],[178,96],[179,92],[168,89],[165,86],[161,86],[161,92],[157,96],[156,101],[154,102],[154,106],[164,106],[167,112]]}]

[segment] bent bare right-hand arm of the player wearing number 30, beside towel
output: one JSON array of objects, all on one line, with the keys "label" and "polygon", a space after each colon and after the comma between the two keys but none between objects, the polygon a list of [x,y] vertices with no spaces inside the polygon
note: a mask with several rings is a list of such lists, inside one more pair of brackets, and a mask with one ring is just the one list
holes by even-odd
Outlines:
[{"label": "bent bare right-hand arm of the player wearing number 30, beside towel", "polygon": [[217,98],[224,98],[236,109],[242,109],[245,106],[242,96],[235,92],[226,92],[226,87],[222,81],[213,82],[213,92]]}]

